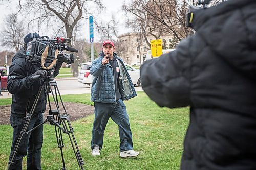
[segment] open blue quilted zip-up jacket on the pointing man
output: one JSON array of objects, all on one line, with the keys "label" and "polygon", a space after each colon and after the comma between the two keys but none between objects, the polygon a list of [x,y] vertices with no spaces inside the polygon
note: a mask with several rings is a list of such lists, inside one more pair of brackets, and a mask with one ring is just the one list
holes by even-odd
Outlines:
[{"label": "open blue quilted zip-up jacket on the pointing man", "polygon": [[[132,79],[125,68],[121,58],[117,54],[113,54],[117,59],[119,65],[119,90],[122,100],[128,100],[137,96],[133,86]],[[92,82],[91,101],[101,103],[116,103],[115,83],[113,76],[113,68],[110,63],[102,65],[101,61],[104,57],[103,51],[100,53],[99,58],[92,62],[90,69],[91,74],[94,76]]]}]

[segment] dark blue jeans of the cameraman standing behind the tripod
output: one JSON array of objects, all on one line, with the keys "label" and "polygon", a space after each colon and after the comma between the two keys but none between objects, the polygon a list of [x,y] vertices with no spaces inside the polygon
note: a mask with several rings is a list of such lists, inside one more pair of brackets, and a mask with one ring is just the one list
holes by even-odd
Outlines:
[{"label": "dark blue jeans of the cameraman standing behind the tripod", "polygon": [[[9,161],[13,154],[15,144],[18,140],[20,131],[22,131],[23,126],[25,124],[26,115],[19,114],[11,114],[10,122],[13,128],[13,137],[12,137],[12,147],[11,154],[9,157]],[[35,114],[30,120],[27,131],[32,129],[33,127],[39,125],[43,122],[42,113]],[[22,140],[20,141],[16,158],[14,158],[14,163],[10,167],[10,169],[21,170],[22,169],[22,159],[27,155],[27,169],[41,169],[41,148],[42,148],[42,130],[43,126],[39,126],[31,134],[24,134]]]}]

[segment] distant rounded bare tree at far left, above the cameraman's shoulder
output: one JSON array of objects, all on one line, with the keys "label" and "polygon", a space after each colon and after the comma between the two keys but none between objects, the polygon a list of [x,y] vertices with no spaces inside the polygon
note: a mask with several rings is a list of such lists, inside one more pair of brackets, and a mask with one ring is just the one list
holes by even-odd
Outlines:
[{"label": "distant rounded bare tree at far left, above the cameraman's shoulder", "polygon": [[1,31],[1,45],[10,51],[17,52],[22,46],[25,28],[22,21],[18,21],[17,15],[9,14],[4,21],[4,29]]}]

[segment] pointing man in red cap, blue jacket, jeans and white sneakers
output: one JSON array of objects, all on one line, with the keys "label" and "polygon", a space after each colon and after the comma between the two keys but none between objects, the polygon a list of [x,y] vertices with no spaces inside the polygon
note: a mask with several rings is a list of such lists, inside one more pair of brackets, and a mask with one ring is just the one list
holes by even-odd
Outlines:
[{"label": "pointing man in red cap, blue jacket, jeans and white sneakers", "polygon": [[111,40],[105,40],[99,58],[92,62],[91,101],[94,102],[94,123],[92,130],[92,155],[100,156],[103,136],[109,118],[118,125],[120,137],[120,157],[138,156],[133,150],[132,131],[123,100],[137,96],[132,80],[123,60],[114,52]]}]

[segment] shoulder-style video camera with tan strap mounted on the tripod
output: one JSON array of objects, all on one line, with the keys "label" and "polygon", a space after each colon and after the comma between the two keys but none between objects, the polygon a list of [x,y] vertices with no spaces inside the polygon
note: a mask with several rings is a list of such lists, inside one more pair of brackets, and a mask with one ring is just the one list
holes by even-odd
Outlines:
[{"label": "shoulder-style video camera with tan strap mounted on the tripod", "polygon": [[74,63],[74,54],[65,54],[67,50],[77,53],[78,50],[67,45],[71,42],[69,38],[50,39],[47,36],[35,38],[27,43],[26,60],[33,64],[40,64],[43,69],[51,69],[57,60],[67,64]]}]

